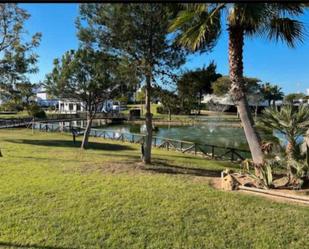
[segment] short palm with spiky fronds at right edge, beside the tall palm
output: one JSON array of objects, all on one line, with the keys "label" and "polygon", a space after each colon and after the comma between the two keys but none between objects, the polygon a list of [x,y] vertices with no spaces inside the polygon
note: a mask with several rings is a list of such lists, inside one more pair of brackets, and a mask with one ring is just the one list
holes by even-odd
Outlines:
[{"label": "short palm with spiky fronds at right edge, beside the tall palm", "polygon": [[[304,167],[301,167],[296,165],[295,162],[298,161],[301,163],[299,161],[299,138],[305,137],[309,129],[309,108],[306,106],[299,106],[297,108],[292,105],[283,106],[281,110],[267,108],[263,112],[260,124],[265,129],[277,130],[285,136],[287,140],[285,148],[287,156],[287,173],[290,182],[293,181],[293,178],[303,177],[307,171],[307,167],[305,167],[305,164],[307,163],[304,161]],[[303,173],[300,174],[300,171]]]}]

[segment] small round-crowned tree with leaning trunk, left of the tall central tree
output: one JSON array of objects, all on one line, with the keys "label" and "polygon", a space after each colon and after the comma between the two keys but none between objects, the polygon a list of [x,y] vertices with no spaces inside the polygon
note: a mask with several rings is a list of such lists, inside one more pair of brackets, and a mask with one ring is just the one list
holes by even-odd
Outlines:
[{"label": "small round-crowned tree with leaning trunk, left of the tall central tree", "polygon": [[104,101],[117,92],[117,62],[115,58],[90,48],[67,51],[54,60],[54,68],[46,75],[45,87],[51,94],[84,103],[87,126],[81,148],[88,145],[92,120]]}]

